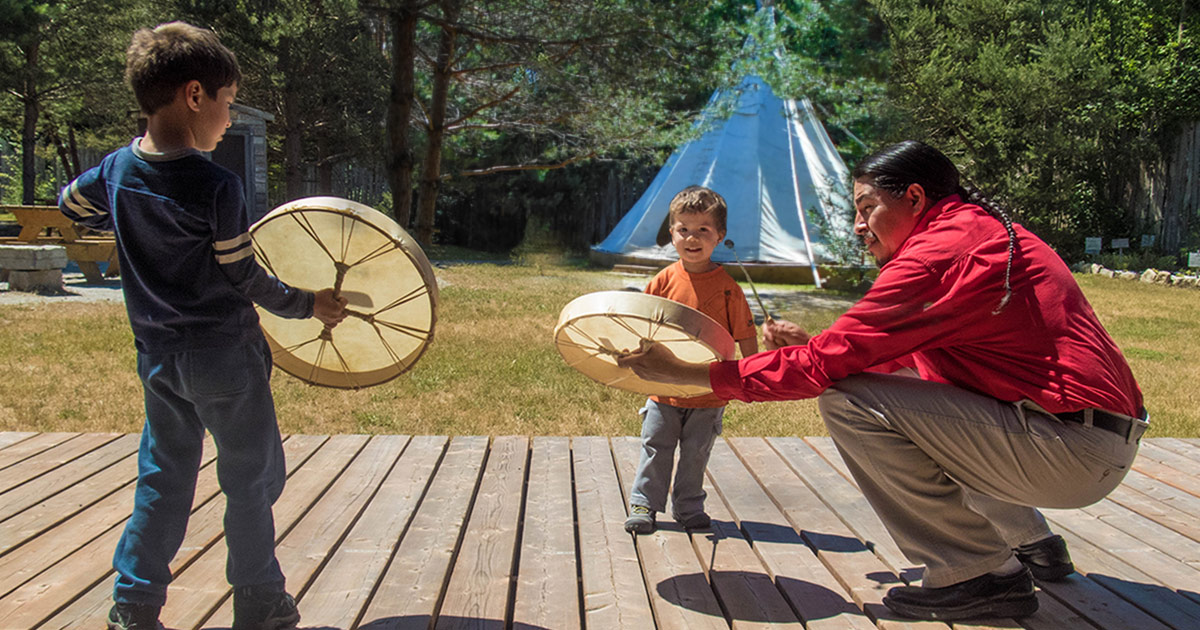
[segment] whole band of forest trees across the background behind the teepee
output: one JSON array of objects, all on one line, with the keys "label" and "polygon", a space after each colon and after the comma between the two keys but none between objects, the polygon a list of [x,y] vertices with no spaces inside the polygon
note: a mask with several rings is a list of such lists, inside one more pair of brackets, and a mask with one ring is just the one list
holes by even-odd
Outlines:
[{"label": "whole band of forest trees across the background behind the teepee", "polygon": [[1200,1],[755,5],[0,0],[0,202],[53,203],[126,144],[130,35],[182,19],[274,115],[272,206],[340,194],[426,245],[584,251],[752,72],[810,98],[847,164],[940,146],[1068,260],[1084,236],[1153,235],[1159,269],[1200,247]]}]

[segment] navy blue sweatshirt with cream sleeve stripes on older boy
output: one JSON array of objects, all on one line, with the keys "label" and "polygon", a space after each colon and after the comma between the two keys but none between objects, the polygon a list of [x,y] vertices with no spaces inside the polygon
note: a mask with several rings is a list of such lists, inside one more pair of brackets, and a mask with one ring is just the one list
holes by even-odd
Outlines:
[{"label": "navy blue sweatshirt with cream sleeve stripes on older boy", "polygon": [[73,221],[116,233],[138,350],[259,341],[256,302],[281,317],[311,317],[313,294],[254,260],[238,176],[193,149],[149,154],[139,142],[106,156],[59,197]]}]

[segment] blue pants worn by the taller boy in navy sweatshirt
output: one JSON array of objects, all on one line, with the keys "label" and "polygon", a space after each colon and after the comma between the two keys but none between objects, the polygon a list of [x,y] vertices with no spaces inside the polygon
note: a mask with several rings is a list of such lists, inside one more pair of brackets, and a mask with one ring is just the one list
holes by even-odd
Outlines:
[{"label": "blue pants worn by the taller boy in navy sweatshirt", "polygon": [[271,505],[287,469],[266,342],[172,354],[138,353],[146,421],[133,516],[116,545],[118,602],[162,606],[170,560],[187,529],[204,430],[217,446],[226,496],[226,576],[235,587],[283,588]]}]

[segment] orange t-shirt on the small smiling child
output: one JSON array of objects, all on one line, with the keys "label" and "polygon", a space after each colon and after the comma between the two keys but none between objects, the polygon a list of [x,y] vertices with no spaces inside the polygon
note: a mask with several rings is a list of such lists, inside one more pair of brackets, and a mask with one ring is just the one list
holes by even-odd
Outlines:
[{"label": "orange t-shirt on the small smiling child", "polygon": [[[733,277],[720,265],[712,271],[691,274],[683,268],[683,263],[673,263],[650,280],[646,286],[646,293],[677,301],[712,317],[730,331],[733,341],[749,340],[758,335],[754,313],[750,312],[742,287],[738,287]],[[650,396],[650,400],[688,409],[725,407],[725,400],[714,394],[690,398]]]}]

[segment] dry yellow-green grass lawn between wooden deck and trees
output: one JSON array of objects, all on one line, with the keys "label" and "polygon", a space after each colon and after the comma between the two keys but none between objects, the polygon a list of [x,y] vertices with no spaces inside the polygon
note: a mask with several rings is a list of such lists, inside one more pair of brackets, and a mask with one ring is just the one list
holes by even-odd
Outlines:
[{"label": "dry yellow-green grass lawn between wooden deck and trees", "polygon": [[[361,391],[306,385],[276,371],[280,425],[293,433],[637,434],[643,397],[566,367],[551,341],[562,307],[644,277],[545,262],[458,264],[437,270],[438,328],[416,366]],[[1200,295],[1079,276],[1133,365],[1151,436],[1200,434]],[[772,314],[820,330],[852,296],[760,286]],[[142,391],[125,310],[113,304],[0,306],[0,430],[140,430]],[[726,409],[727,436],[811,436],[814,401]]]}]

